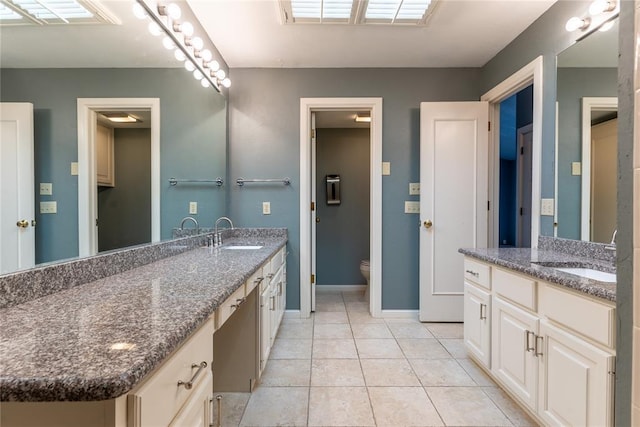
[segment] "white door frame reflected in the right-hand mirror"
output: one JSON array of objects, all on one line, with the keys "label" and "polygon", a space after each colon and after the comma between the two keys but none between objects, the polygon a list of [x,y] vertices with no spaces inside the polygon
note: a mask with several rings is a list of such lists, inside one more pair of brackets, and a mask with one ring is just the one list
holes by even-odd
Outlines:
[{"label": "white door frame reflected in the right-hand mirror", "polygon": [[580,239],[591,239],[591,112],[618,111],[615,96],[582,98],[582,202],[580,205]]}]

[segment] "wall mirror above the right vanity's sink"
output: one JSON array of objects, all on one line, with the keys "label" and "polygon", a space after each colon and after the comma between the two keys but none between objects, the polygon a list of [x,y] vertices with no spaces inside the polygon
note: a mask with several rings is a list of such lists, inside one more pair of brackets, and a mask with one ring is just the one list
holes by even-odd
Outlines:
[{"label": "wall mirror above the right vanity's sink", "polygon": [[557,63],[557,236],[609,243],[616,230],[618,23]]}]

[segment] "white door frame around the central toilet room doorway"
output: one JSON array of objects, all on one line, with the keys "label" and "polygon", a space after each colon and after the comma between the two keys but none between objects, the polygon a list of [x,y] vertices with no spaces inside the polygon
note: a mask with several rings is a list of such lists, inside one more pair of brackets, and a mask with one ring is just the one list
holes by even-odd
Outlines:
[{"label": "white door frame around the central toilet room doorway", "polygon": [[311,112],[371,111],[369,311],[382,315],[382,98],[300,98],[300,317],[311,316]]}]

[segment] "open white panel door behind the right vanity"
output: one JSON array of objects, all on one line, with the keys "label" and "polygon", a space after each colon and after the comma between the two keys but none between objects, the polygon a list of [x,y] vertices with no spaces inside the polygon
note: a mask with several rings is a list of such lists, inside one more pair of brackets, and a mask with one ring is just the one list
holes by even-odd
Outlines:
[{"label": "open white panel door behind the right vanity", "polygon": [[420,320],[464,317],[462,247],[487,245],[487,102],[420,104]]}]

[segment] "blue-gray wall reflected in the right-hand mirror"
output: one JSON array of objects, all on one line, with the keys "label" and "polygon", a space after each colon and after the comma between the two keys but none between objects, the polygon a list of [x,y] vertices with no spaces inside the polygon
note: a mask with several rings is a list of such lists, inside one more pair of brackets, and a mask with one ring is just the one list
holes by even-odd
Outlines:
[{"label": "blue-gray wall reflected in the right-hand mirror", "polygon": [[582,176],[571,162],[582,161],[582,98],[617,92],[616,68],[558,68],[558,237],[580,239]]}]

